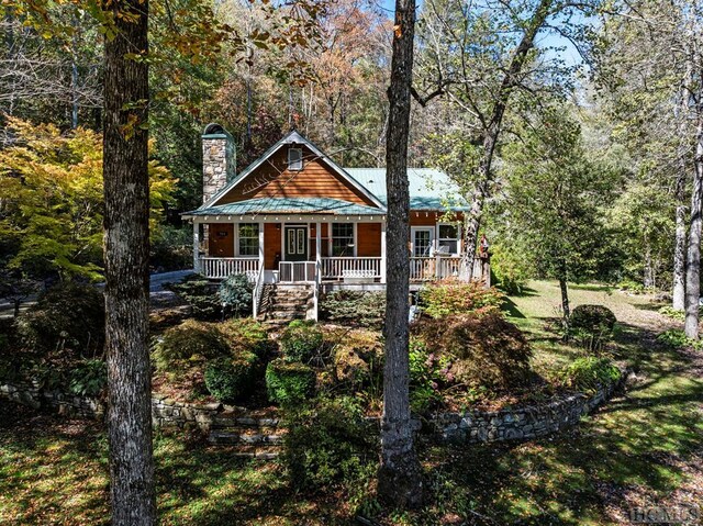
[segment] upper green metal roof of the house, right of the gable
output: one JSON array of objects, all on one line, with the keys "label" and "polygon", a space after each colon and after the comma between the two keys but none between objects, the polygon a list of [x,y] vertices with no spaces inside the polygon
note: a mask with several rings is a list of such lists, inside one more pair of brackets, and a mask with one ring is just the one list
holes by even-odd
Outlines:
[{"label": "upper green metal roof of the house, right of the gable", "polygon": [[[387,204],[386,168],[345,168],[354,179]],[[411,210],[468,210],[468,203],[457,186],[440,170],[432,168],[408,168]]]}]

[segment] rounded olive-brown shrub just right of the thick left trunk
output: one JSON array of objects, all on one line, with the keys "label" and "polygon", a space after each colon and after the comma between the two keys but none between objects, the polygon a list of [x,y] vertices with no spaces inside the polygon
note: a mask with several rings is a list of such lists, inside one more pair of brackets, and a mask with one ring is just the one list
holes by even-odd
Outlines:
[{"label": "rounded olive-brown shrub just right of the thick left trunk", "polygon": [[164,332],[154,346],[153,357],[157,370],[174,376],[230,352],[227,339],[217,325],[187,320]]}]

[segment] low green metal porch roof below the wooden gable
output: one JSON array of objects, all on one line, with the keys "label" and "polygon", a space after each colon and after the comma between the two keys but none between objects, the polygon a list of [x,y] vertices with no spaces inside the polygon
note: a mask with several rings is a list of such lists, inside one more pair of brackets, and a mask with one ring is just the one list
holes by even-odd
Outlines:
[{"label": "low green metal porch roof below the wooden gable", "polygon": [[260,198],[200,208],[183,215],[332,214],[383,215],[386,210],[330,198]]}]

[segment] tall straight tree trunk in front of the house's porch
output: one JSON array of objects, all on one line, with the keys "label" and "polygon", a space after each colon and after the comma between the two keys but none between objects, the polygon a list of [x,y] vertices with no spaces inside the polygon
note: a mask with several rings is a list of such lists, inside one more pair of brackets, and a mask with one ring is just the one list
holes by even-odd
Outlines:
[{"label": "tall straight tree trunk in front of the house's porch", "polygon": [[415,0],[395,1],[390,122],[386,145],[388,230],[386,286],[386,365],[379,496],[406,508],[422,503],[422,470],[413,449],[410,414],[408,324],[410,292],[410,193],[408,137],[413,69]]}]

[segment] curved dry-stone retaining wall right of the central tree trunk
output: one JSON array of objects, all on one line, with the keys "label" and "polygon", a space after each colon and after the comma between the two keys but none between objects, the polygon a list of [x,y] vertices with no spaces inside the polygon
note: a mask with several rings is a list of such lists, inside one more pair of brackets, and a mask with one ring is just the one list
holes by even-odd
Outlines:
[{"label": "curved dry-stone retaining wall right of the central tree trunk", "polygon": [[444,441],[475,444],[537,438],[576,425],[581,416],[606,401],[627,374],[623,371],[620,382],[602,387],[591,395],[572,394],[548,404],[515,410],[444,413],[432,425]]}]

